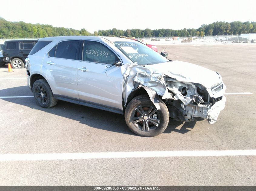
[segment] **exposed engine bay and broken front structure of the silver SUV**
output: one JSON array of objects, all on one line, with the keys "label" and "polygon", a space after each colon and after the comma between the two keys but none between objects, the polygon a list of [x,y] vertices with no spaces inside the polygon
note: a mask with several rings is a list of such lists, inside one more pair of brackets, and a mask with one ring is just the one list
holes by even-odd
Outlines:
[{"label": "exposed engine bay and broken front structure of the silver SUV", "polygon": [[[166,81],[167,88],[173,94],[173,98],[165,99],[170,117],[178,121],[198,121],[208,119],[209,123],[214,120],[209,115],[209,110],[223,96],[210,97],[206,88],[201,84],[185,84],[183,82]],[[209,120],[210,119],[210,120]]]}]

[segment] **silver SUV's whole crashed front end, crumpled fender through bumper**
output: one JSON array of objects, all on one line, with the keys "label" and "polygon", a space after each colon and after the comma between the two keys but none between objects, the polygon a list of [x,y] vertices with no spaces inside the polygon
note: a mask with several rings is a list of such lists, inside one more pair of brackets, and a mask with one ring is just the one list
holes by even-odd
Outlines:
[{"label": "silver SUV's whole crashed front end, crumpled fender through bumper", "polygon": [[166,104],[170,118],[185,122],[207,119],[210,124],[216,122],[225,107],[226,87],[218,73],[218,83],[211,86],[209,83],[203,85],[179,74],[159,72],[136,63],[124,65],[122,73],[125,104],[132,91],[144,88],[157,109],[160,109],[159,99]]}]

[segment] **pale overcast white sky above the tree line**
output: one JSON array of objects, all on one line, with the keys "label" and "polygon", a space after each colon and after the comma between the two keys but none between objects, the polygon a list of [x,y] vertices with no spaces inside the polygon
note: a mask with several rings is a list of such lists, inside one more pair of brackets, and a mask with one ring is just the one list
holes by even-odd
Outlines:
[{"label": "pale overcast white sky above the tree line", "polygon": [[[7,21],[85,28],[91,33],[112,28],[178,30],[215,21],[256,21],[253,0],[5,0],[1,7],[0,17]],[[9,11],[3,11],[5,8]]]}]

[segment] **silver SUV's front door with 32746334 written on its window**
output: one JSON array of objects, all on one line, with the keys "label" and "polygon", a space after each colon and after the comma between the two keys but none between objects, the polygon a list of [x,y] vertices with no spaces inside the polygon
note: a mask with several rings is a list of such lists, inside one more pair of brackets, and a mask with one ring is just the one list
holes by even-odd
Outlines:
[{"label": "silver SUV's front door with 32746334 written on its window", "polygon": [[84,41],[82,61],[77,65],[81,103],[85,102],[96,108],[107,106],[110,111],[122,113],[123,76],[121,67],[114,65],[118,60],[118,56],[102,42]]}]

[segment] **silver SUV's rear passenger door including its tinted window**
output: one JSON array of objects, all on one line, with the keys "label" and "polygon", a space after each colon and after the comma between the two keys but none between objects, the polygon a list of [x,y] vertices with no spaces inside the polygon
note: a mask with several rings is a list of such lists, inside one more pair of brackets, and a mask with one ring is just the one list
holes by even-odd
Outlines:
[{"label": "silver SUV's rear passenger door including its tinted window", "polygon": [[62,100],[73,98],[79,102],[76,77],[79,45],[79,40],[62,41],[43,59],[42,73],[46,74],[55,97]]}]

